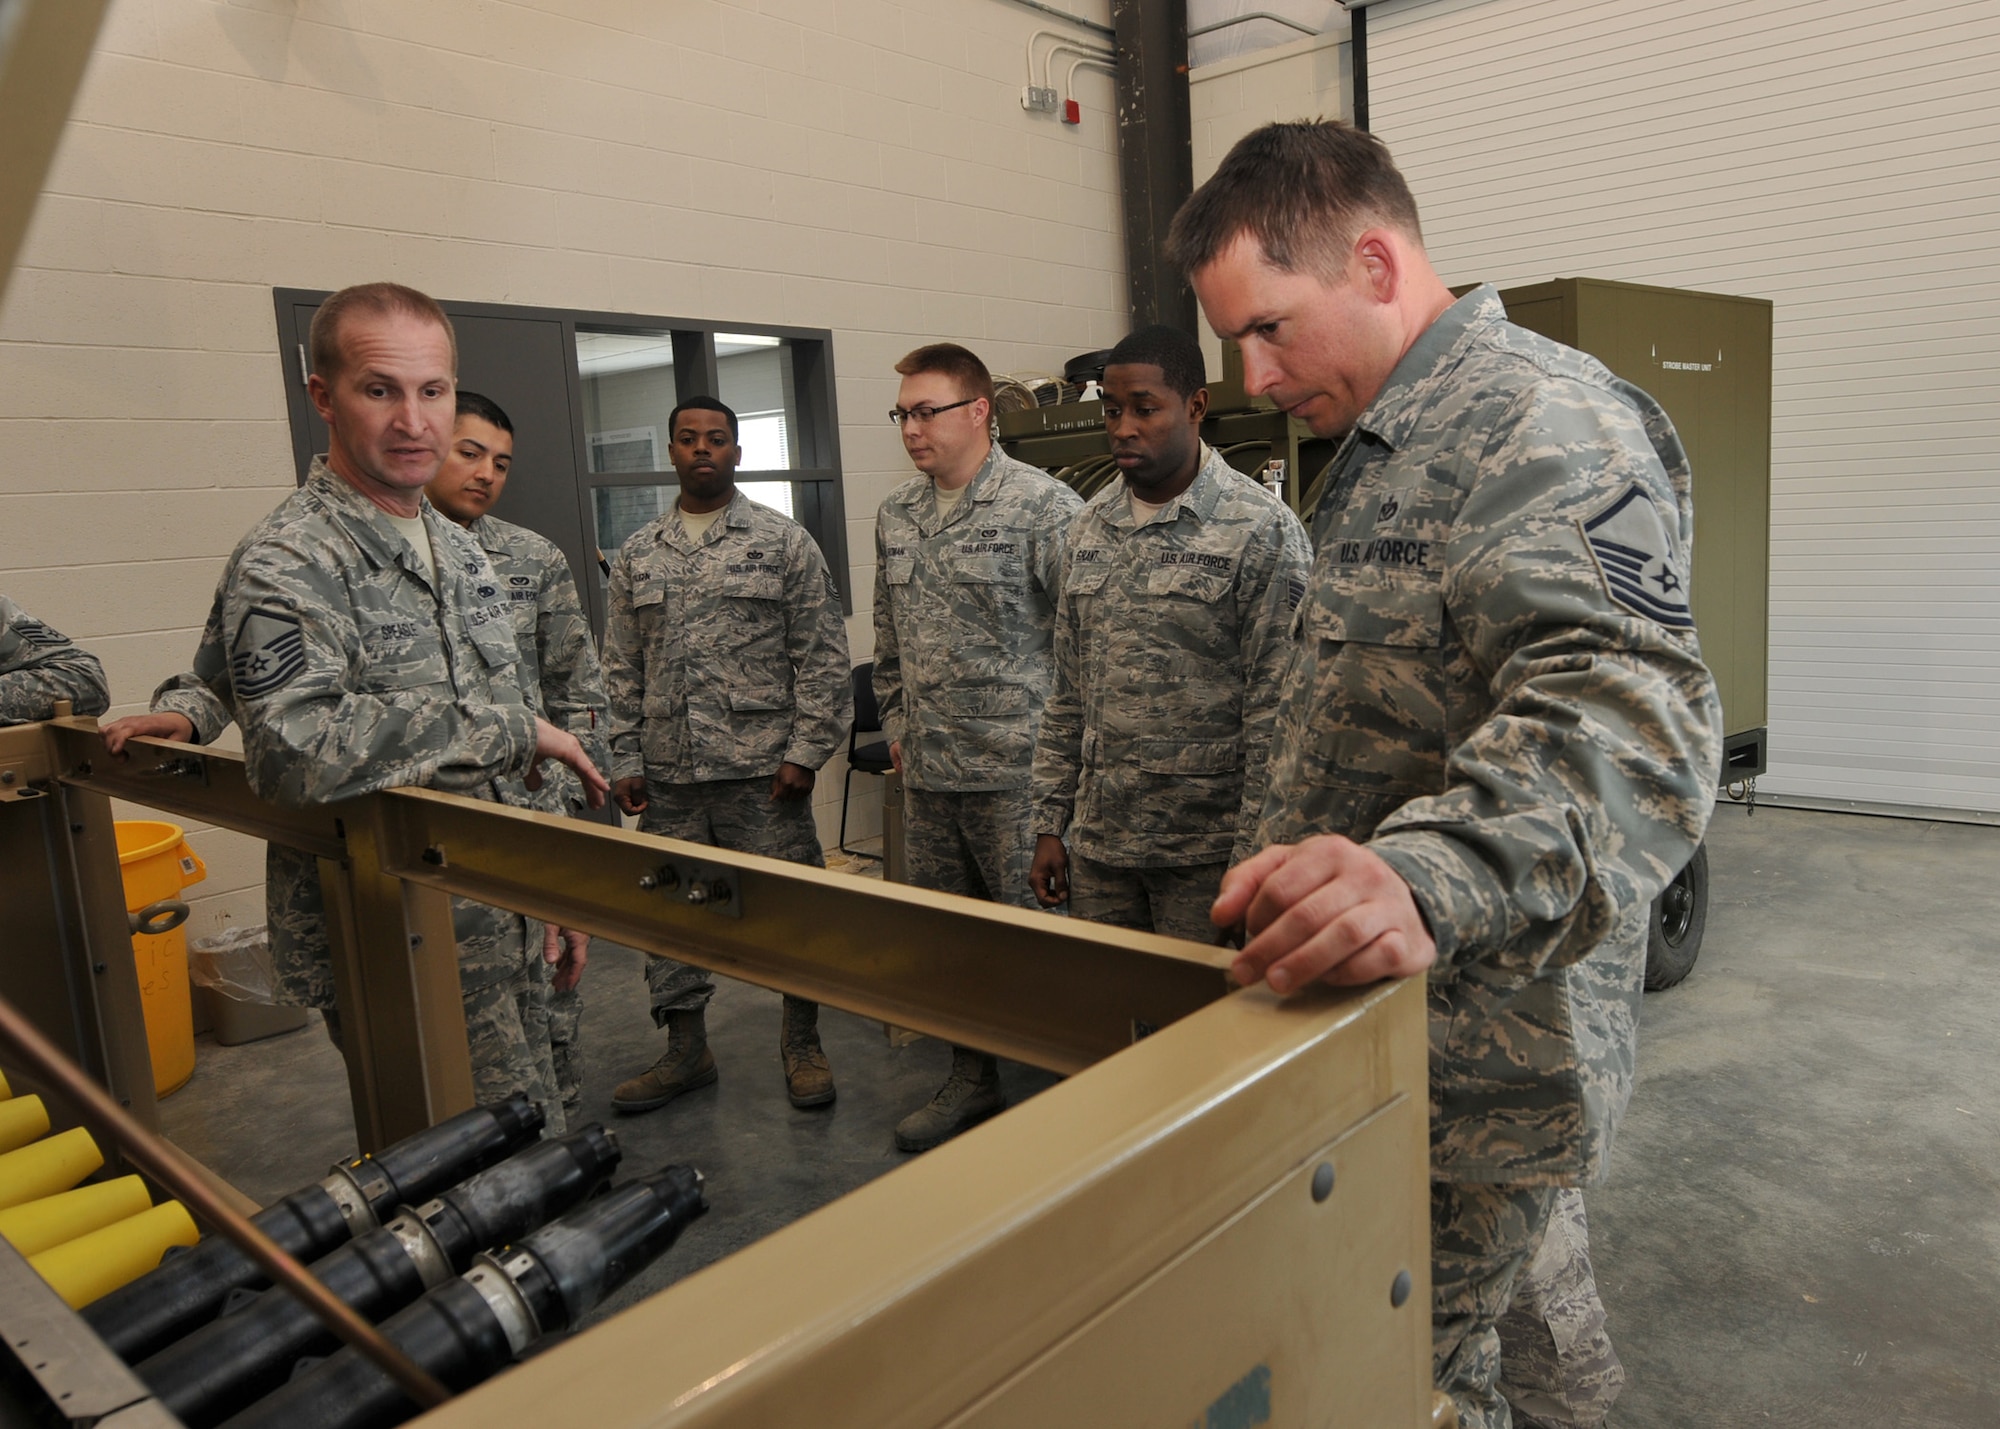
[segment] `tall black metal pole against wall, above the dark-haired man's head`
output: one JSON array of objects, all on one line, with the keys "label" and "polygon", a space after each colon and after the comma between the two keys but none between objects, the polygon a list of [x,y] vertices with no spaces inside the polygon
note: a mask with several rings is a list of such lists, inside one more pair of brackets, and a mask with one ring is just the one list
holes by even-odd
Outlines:
[{"label": "tall black metal pole against wall, above the dark-haired man's head", "polygon": [[1194,292],[1162,256],[1166,230],[1194,192],[1186,0],[1112,0],[1112,32],[1132,322],[1194,332]]}]

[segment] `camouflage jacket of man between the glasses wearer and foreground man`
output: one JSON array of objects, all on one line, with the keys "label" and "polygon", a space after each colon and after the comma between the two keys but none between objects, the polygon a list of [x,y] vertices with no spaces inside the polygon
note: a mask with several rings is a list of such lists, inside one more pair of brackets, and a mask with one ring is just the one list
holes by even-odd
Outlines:
[{"label": "camouflage jacket of man between the glasses wearer and foreground man", "polygon": [[1248,857],[1310,562],[1298,516],[1206,446],[1146,524],[1100,490],[1062,558],[1034,833],[1122,867]]}]

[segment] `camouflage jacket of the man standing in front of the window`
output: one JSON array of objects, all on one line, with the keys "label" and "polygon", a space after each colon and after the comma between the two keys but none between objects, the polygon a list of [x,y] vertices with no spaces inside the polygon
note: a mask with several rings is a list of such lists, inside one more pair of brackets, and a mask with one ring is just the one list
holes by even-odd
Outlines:
[{"label": "camouflage jacket of the man standing in front of the window", "polygon": [[670,785],[820,769],[854,721],[826,556],[742,492],[696,542],[680,508],[612,560],[604,624],[612,779]]}]

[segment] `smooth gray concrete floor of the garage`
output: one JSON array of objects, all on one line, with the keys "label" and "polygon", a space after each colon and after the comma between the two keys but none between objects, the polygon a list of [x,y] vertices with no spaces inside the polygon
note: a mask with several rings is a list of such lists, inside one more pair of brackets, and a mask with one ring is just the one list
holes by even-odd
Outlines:
[{"label": "smooth gray concrete floor of the garage", "polygon": [[[1710,859],[1702,961],[1646,1001],[1612,1181],[1590,1193],[1630,1373],[1612,1423],[2000,1423],[2000,829],[1724,807]],[[890,1127],[948,1061],[826,1011],[840,1101],[794,1111],[776,995],[724,981],[720,1085],[616,1117],[612,1085],[662,1049],[638,963],[592,961],[584,1117],[618,1129],[628,1169],[698,1165],[714,1209],[612,1309],[898,1165]],[[354,1145],[318,1027],[202,1039],[162,1119],[258,1199]]]}]

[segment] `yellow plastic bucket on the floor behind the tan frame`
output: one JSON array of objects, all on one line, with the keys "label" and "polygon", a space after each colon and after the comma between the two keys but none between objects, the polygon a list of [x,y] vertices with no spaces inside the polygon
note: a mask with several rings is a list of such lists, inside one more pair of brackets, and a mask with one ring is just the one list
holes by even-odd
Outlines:
[{"label": "yellow plastic bucket on the floor behind the tan frame", "polygon": [[180,825],[152,819],[118,821],[118,865],[126,913],[132,917],[132,959],[146,1009],[146,1049],[152,1053],[156,1095],[180,1091],[194,1075],[194,1007],[188,1001],[188,919],[182,889],[208,877]]}]

